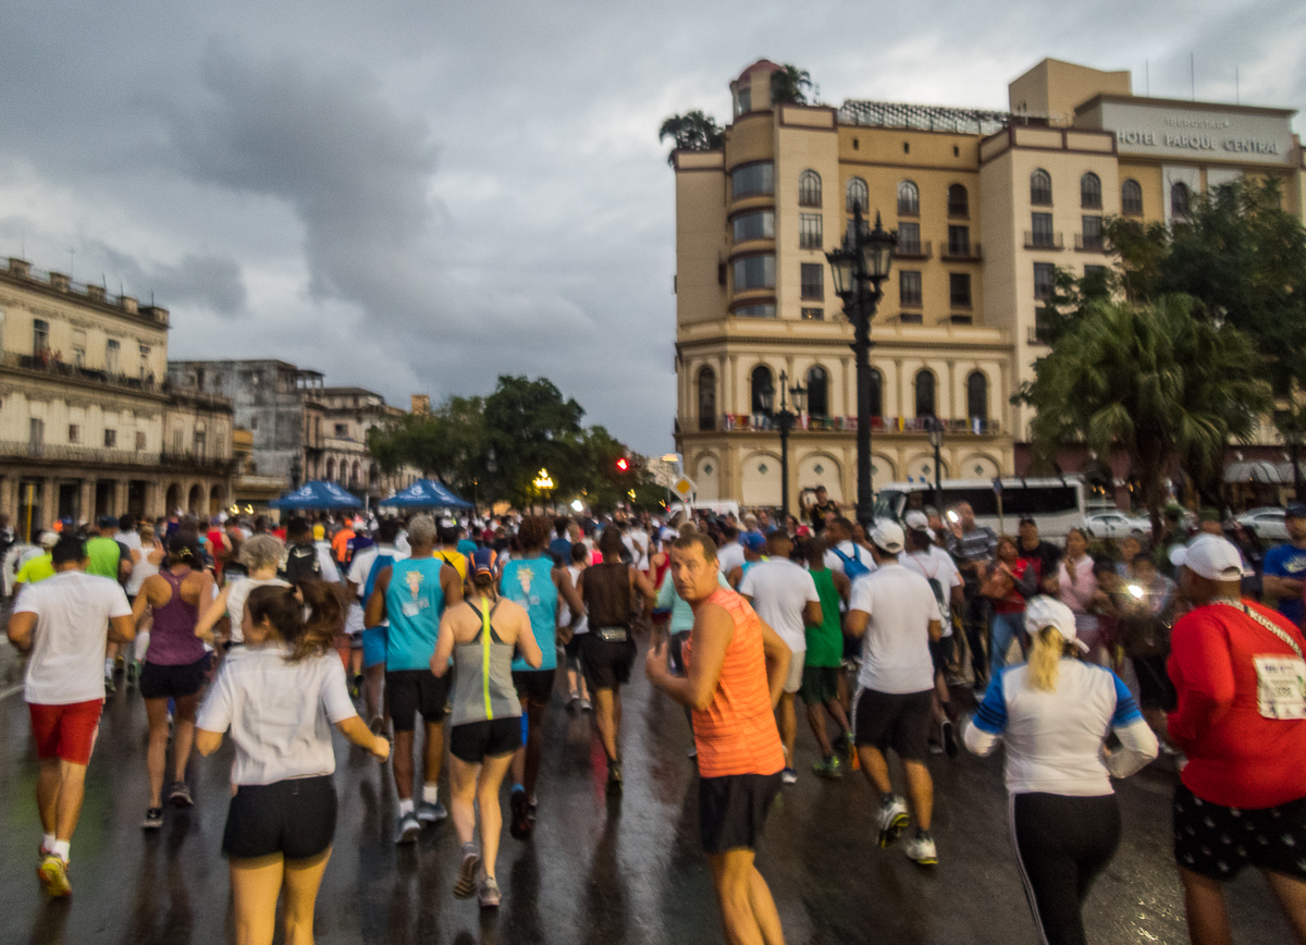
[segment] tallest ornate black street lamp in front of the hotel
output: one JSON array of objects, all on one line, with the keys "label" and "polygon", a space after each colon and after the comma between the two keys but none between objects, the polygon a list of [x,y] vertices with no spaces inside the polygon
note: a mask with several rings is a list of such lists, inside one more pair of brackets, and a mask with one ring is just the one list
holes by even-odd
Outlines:
[{"label": "tallest ornate black street lamp in front of the hotel", "polygon": [[[853,205],[853,221],[844,231],[844,243],[825,254],[835,281],[835,294],[844,302],[844,316],[853,324],[853,353],[857,356],[857,520],[870,528],[871,493],[871,319],[875,318],[883,284],[893,264],[897,233],[862,220],[862,205]],[[786,495],[788,498],[788,495]]]}]

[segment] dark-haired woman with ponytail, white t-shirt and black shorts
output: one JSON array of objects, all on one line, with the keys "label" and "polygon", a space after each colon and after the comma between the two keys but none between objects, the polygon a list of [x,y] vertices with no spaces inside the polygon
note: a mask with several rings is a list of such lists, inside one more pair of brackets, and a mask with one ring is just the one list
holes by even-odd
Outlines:
[{"label": "dark-haired woman with ponytail, white t-shirt and black shorts", "polygon": [[[196,749],[213,754],[231,728],[235,793],[222,835],[231,872],[236,941],[269,945],[286,893],[287,945],[311,945],[317,887],[336,835],[336,753],[330,725],[385,761],[390,744],[354,711],[336,634],[345,606],[307,580],[249,592],[246,646],[222,664],[200,710]],[[304,605],[308,618],[304,618]]]}]

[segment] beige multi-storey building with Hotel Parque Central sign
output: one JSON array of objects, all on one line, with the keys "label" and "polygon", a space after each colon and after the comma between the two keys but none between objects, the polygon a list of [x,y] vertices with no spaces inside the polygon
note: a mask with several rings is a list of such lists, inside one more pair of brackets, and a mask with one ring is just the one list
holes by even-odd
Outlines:
[{"label": "beige multi-storey building with Hotel Parque Central sign", "polygon": [[[1282,180],[1306,218],[1290,110],[1144,98],[1128,72],[1045,59],[986,112],[846,101],[772,105],[761,60],[730,84],[721,150],[674,153],[677,447],[697,499],[780,505],[780,435],[759,392],[807,388],[790,437],[790,502],[824,485],[855,499],[853,328],[824,252],[854,204],[897,230],[872,323],[872,478],[934,478],[926,420],[947,434],[944,478],[1021,474],[1027,408],[1011,404],[1047,353],[1040,308],[1057,267],[1105,267],[1107,216],[1170,222],[1242,174]],[[1282,444],[1245,450],[1279,461]],[[1260,452],[1258,452],[1260,451]],[[1263,455],[1262,455],[1263,454]],[[1067,455],[1063,472],[1093,473]],[[1249,465],[1249,464],[1242,464]],[[1121,495],[1127,468],[1097,480]]]}]

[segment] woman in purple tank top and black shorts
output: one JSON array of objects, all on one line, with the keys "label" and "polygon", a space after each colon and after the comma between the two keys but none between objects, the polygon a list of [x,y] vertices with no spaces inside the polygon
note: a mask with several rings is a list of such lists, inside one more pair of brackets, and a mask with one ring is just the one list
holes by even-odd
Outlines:
[{"label": "woman in purple tank top and black shorts", "polygon": [[176,706],[172,744],[172,784],[167,799],[175,808],[192,804],[185,767],[195,742],[195,710],[200,705],[209,656],[195,635],[200,610],[213,599],[213,575],[204,570],[195,536],[178,532],[168,541],[167,557],[158,574],[146,578],[132,604],[136,626],[153,617],[149,648],[141,667],[140,688],[145,698],[150,742],[145,766],[150,778],[150,803],[142,826],[163,826],[163,774],[167,767],[168,699]]}]

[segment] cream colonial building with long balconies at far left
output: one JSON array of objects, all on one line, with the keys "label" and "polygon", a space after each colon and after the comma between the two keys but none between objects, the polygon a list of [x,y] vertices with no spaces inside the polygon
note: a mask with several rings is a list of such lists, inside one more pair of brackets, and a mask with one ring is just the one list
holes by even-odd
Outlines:
[{"label": "cream colonial building with long balconies at far left", "polygon": [[9,259],[0,271],[0,512],[222,508],[231,404],[166,383],[168,312]]}]

